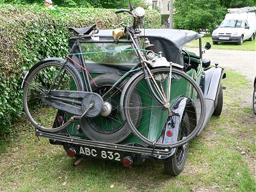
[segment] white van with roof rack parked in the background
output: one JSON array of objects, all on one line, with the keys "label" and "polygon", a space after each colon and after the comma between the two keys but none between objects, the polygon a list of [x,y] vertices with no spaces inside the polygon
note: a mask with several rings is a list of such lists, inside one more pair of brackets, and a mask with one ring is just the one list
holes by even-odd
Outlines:
[{"label": "white van with roof rack parked in the background", "polygon": [[244,40],[255,39],[256,7],[230,8],[221,22],[212,32],[212,44],[218,42],[236,42],[242,45]]}]

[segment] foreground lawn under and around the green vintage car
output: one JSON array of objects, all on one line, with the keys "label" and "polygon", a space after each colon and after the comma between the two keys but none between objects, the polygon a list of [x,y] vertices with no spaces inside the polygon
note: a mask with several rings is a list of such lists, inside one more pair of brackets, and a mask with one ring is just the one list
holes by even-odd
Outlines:
[{"label": "foreground lawn under and around the green vintage car", "polygon": [[0,191],[255,191],[255,115],[250,84],[234,72],[223,80],[223,113],[189,143],[184,171],[165,175],[157,161],[125,168],[86,159],[72,166],[62,147],[34,136],[26,118],[19,137],[1,148]]}]

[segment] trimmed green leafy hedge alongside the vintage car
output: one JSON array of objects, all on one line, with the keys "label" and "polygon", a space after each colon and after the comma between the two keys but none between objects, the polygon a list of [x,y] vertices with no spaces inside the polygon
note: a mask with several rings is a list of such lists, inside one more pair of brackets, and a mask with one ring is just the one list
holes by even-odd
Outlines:
[{"label": "trimmed green leafy hedge alongside the vintage car", "polygon": [[[22,113],[22,71],[47,57],[65,58],[68,26],[111,29],[117,23],[114,10],[0,4],[0,132],[10,131]],[[161,28],[161,15],[147,12],[145,28]]]}]

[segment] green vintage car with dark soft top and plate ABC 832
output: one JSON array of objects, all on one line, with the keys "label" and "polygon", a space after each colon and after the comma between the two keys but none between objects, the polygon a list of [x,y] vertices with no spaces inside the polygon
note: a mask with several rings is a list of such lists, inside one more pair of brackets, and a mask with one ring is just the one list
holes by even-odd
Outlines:
[{"label": "green vintage car with dark soft top and plate ABC 832", "polygon": [[[203,60],[201,44],[201,38],[203,35],[200,35],[195,31],[177,29],[143,29],[141,32],[142,38],[148,38],[148,40],[150,40],[150,46],[156,45],[156,50],[154,51],[161,51],[159,54],[162,54],[166,60],[172,61],[173,63],[178,63],[181,67],[180,70],[186,72],[186,74],[189,74],[189,76],[193,77],[196,83],[200,85],[200,89],[204,93],[204,100],[207,109],[205,111],[204,124],[202,127],[200,127],[200,131],[197,133],[200,134],[207,122],[209,122],[212,115],[221,115],[223,104],[221,80],[226,76],[225,71],[223,68],[218,67],[218,65],[210,67],[211,61],[205,59]],[[93,57],[92,54],[90,54],[90,56],[84,59],[86,59],[86,65],[88,71],[91,72],[93,81],[95,81],[98,86],[103,86],[103,88],[98,88],[93,86],[92,83],[92,88],[94,87],[93,90],[96,92],[97,90],[100,90],[101,93],[104,93],[104,90],[106,90],[112,83],[115,83],[115,81],[117,81],[122,74],[125,74],[125,72],[128,70],[131,70],[131,68],[135,65],[134,62],[136,63],[138,60],[135,59],[136,54],[131,54],[131,52],[122,54],[122,57],[118,58],[118,50],[131,49],[131,45],[122,44],[122,39],[118,42],[118,44],[113,42],[112,44],[107,45],[106,42],[109,43],[113,41],[112,30],[101,30],[98,36],[102,42],[97,41],[93,43],[90,36],[84,36],[84,38],[83,36],[74,36],[70,38],[70,48],[75,42],[77,42],[77,40],[81,42],[83,52],[86,50],[92,52],[95,47],[97,48],[97,56]],[[184,45],[186,43],[195,39],[199,39],[199,55],[184,49]],[[109,49],[108,46],[111,46],[111,50],[113,51],[106,52],[106,49]],[[207,43],[204,49],[210,48],[211,44]],[[104,52],[103,56],[99,55],[99,50]],[[81,57],[79,54],[74,54],[72,59],[78,62]],[[119,59],[122,60],[122,63],[117,61]],[[49,61],[64,62],[65,60],[62,61],[60,58],[48,58],[47,60],[40,61],[40,63]],[[175,81],[179,83],[179,77],[173,78],[176,78]],[[175,86],[174,83],[175,82],[172,84],[173,88]],[[182,81],[180,83],[182,83]],[[186,84],[183,84],[183,86],[180,84],[179,87],[182,87],[184,93],[193,93],[193,90],[186,86]],[[180,90],[177,89],[177,92],[179,91]],[[138,91],[138,94],[145,93],[140,93],[140,91]],[[119,100],[120,99],[113,100],[111,105],[118,108]],[[193,124],[196,124],[196,116],[192,118],[189,115],[190,112],[188,112],[184,118],[188,119],[188,122],[193,122]],[[58,117],[56,116],[54,125],[60,124],[60,121],[64,121],[65,118],[61,118],[60,116],[61,113],[63,113],[63,111],[58,111]],[[122,125],[124,124],[122,122],[122,117],[118,115],[118,113],[120,112],[116,111],[113,115],[100,115],[95,118],[84,117],[79,122],[75,122],[74,124],[70,125],[70,127],[67,129],[58,132],[42,131],[39,127],[36,127],[36,135],[49,138],[50,143],[53,145],[63,145],[68,156],[76,156],[78,158],[74,165],[80,163],[84,157],[116,161],[123,163],[124,166],[141,164],[143,161],[145,161],[145,159],[156,159],[164,163],[164,169],[168,174],[179,175],[179,173],[182,172],[188,154],[188,143],[177,148],[155,148],[154,146],[152,147],[141,142],[141,140],[139,140],[136,135],[132,134],[132,132],[130,132],[129,135],[124,136],[122,140],[113,140],[112,142],[111,135],[117,134],[117,131],[122,129],[118,127],[124,127]],[[65,116],[67,115],[63,115],[62,117]],[[154,116],[151,116],[152,119],[149,119],[151,122],[150,124],[154,124],[154,122],[156,122],[156,119],[154,120],[153,117]],[[120,122],[117,123],[119,125],[116,125],[115,121]],[[182,126],[189,127],[189,124],[184,122],[182,124]],[[109,128],[102,129],[102,126]],[[177,124],[177,126],[178,130],[182,129],[179,128],[179,124]],[[129,129],[129,127],[126,127],[125,129]],[[158,128],[155,127],[154,129],[157,130]],[[162,132],[161,130],[158,131],[159,133]],[[122,136],[122,131],[119,131],[118,134],[121,134]],[[172,134],[172,132],[169,132],[168,134]],[[115,136],[113,139],[114,138]]]}]

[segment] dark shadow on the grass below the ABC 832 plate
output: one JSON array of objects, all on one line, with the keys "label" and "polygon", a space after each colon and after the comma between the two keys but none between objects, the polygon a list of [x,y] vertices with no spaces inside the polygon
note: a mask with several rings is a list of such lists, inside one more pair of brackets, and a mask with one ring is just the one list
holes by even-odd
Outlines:
[{"label": "dark shadow on the grass below the ABC 832 plate", "polygon": [[[164,173],[163,163],[147,159],[140,165],[133,165],[126,168],[122,163],[111,161],[102,161],[101,159],[85,158],[81,164],[74,167],[76,159],[69,159],[65,166],[64,172],[70,172],[70,176],[75,178],[88,177],[90,186],[95,188],[104,188],[106,185],[115,184],[123,189],[132,189],[135,191],[146,189],[161,189],[167,180],[172,182],[175,177]],[[77,180],[79,184],[81,180]]]}]

